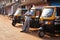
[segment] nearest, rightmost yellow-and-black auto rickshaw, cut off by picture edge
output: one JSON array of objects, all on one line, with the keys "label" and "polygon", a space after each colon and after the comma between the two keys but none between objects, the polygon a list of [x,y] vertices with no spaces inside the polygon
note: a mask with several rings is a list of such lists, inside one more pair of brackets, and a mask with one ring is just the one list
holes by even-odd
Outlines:
[{"label": "nearest, rightmost yellow-and-black auto rickshaw, cut off by picture edge", "polygon": [[45,6],[40,16],[39,36],[60,34],[60,6]]}]

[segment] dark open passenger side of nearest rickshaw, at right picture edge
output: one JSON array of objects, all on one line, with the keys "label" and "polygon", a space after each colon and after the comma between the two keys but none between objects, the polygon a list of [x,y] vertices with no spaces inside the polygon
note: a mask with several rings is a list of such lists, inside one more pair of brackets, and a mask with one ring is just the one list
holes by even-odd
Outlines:
[{"label": "dark open passenger side of nearest rickshaw, at right picture edge", "polygon": [[60,33],[60,7],[56,9],[56,18],[55,18],[55,30],[59,31]]}]

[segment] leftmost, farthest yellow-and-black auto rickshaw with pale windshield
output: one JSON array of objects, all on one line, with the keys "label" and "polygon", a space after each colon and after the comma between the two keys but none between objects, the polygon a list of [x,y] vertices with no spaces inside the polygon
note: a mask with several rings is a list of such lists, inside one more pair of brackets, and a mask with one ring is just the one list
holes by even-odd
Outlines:
[{"label": "leftmost, farthest yellow-and-black auto rickshaw with pale windshield", "polygon": [[21,9],[17,8],[13,20],[12,20],[12,25],[15,26],[17,23],[24,22],[24,16],[23,14],[27,11],[27,9]]}]

